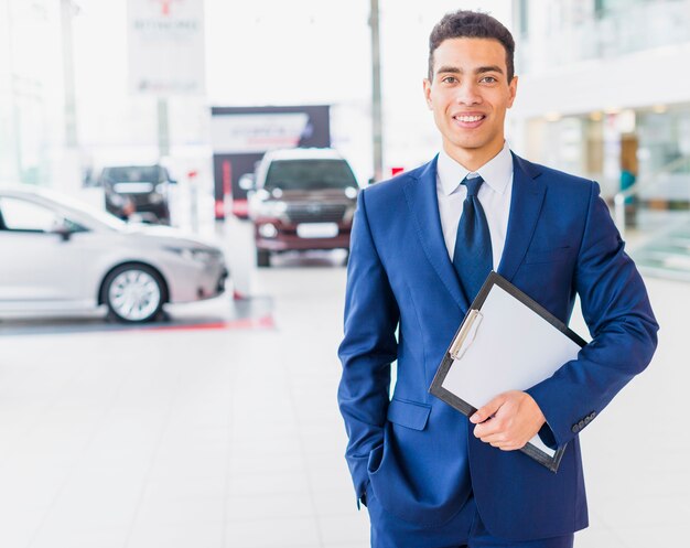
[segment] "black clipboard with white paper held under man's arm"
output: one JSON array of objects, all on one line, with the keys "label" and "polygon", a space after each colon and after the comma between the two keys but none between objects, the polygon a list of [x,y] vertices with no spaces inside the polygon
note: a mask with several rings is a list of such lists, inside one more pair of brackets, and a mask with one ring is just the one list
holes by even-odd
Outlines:
[{"label": "black clipboard with white paper held under man's arm", "polygon": [[[467,417],[507,390],[526,390],[578,357],[586,342],[492,271],[461,323],[429,391]],[[557,472],[565,445],[535,436],[520,451]]]}]

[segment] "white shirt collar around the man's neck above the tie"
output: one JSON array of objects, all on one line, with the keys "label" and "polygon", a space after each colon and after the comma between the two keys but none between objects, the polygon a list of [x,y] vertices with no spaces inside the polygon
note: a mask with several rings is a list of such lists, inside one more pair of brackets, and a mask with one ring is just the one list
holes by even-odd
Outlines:
[{"label": "white shirt collar around the man's neck above the tie", "polygon": [[[436,163],[436,172],[441,187],[445,195],[450,195],[457,187],[470,170],[453,160],[445,150],[441,149]],[[500,152],[482,165],[474,173],[478,173],[484,182],[495,192],[503,194],[513,176],[513,155],[510,147],[504,141]]]}]

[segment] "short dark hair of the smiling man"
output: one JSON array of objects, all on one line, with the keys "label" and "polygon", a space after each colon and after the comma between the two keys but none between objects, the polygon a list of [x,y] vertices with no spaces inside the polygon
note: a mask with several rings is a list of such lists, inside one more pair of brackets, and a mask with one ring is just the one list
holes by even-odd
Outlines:
[{"label": "short dark hair of the smiling man", "polygon": [[429,79],[433,78],[433,52],[449,39],[492,39],[506,50],[508,82],[515,75],[515,40],[513,34],[493,17],[478,11],[459,10],[448,13],[429,35]]}]

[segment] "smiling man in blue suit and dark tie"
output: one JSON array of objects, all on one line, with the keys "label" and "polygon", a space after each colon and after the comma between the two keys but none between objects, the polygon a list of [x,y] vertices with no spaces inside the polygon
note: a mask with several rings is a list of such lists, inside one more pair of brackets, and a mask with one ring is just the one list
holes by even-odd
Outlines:
[{"label": "smiling man in blue suit and dark tie", "polygon": [[[514,49],[486,14],[444,17],[424,80],[442,150],[359,194],[338,401],[376,548],[571,547],[587,526],[578,434],[656,347],[645,286],[599,185],[505,143]],[[579,294],[593,340],[467,419],[428,389],[492,268],[565,323]],[[558,473],[516,451],[537,433],[567,444]]]}]

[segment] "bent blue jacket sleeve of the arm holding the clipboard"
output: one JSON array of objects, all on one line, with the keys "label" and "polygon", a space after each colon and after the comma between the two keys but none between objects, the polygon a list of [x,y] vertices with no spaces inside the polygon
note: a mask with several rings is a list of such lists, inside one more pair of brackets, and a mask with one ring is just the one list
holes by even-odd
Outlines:
[{"label": "bent blue jacket sleeve of the arm holding the clipboard", "polygon": [[528,389],[563,445],[651,361],[658,325],[647,290],[608,208],[592,184],[575,289],[592,342],[578,358]]}]

